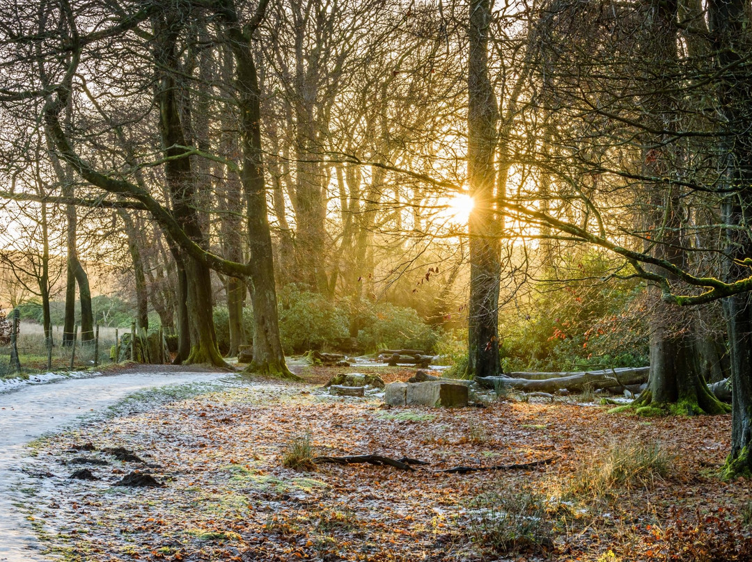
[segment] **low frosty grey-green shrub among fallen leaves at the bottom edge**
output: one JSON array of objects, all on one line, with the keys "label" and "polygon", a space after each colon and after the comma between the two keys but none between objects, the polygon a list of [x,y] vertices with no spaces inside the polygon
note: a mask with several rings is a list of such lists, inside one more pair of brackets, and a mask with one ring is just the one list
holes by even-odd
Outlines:
[{"label": "low frosty grey-green shrub among fallen leaves at the bottom edge", "polygon": [[468,503],[465,530],[484,548],[502,554],[553,547],[553,525],[545,498],[512,485],[484,492]]}]

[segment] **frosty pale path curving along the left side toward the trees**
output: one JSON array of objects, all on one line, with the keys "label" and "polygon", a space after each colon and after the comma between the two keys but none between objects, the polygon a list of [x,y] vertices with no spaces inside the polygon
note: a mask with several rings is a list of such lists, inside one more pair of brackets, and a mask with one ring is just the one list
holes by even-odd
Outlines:
[{"label": "frosty pale path curving along the left side toward the trees", "polygon": [[[169,367],[167,367],[169,369]],[[0,560],[40,560],[38,541],[18,506],[27,500],[24,488],[33,473],[26,445],[44,434],[69,427],[87,416],[105,415],[123,397],[147,388],[190,384],[222,385],[223,372],[127,372],[89,379],[67,379],[0,394]],[[138,403],[133,403],[138,408]]]}]

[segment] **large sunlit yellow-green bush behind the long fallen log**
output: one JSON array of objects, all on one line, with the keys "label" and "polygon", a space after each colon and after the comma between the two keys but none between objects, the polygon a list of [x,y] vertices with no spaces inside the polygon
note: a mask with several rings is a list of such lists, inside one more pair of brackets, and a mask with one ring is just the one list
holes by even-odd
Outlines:
[{"label": "large sunlit yellow-green bush behind the long fallen log", "polygon": [[504,370],[646,365],[647,327],[635,313],[643,288],[635,280],[603,283],[610,266],[595,252],[572,255],[518,310],[499,315]]}]

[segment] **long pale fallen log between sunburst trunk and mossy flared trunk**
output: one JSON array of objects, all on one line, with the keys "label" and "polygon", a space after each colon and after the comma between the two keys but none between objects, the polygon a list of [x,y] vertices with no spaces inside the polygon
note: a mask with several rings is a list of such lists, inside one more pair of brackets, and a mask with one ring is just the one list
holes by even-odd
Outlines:
[{"label": "long pale fallen log between sunburst trunk and mossy flared trunk", "polygon": [[496,385],[505,385],[508,388],[516,388],[526,392],[549,392],[554,393],[560,388],[569,391],[584,391],[587,388],[610,388],[622,391],[627,385],[637,385],[647,382],[650,367],[639,367],[626,372],[590,371],[582,373],[569,373],[568,376],[559,376],[553,379],[513,379],[508,376],[479,376],[475,379],[479,385],[486,388],[495,388]]}]

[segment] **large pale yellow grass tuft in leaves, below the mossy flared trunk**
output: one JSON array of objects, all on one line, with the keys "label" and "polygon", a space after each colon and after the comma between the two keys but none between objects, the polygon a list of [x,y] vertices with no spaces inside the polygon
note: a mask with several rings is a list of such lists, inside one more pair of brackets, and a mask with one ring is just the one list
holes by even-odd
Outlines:
[{"label": "large pale yellow grass tuft in leaves, below the mossy flared trunk", "polygon": [[583,461],[569,485],[572,497],[606,497],[616,488],[648,488],[672,472],[672,458],[660,443],[614,441]]}]

